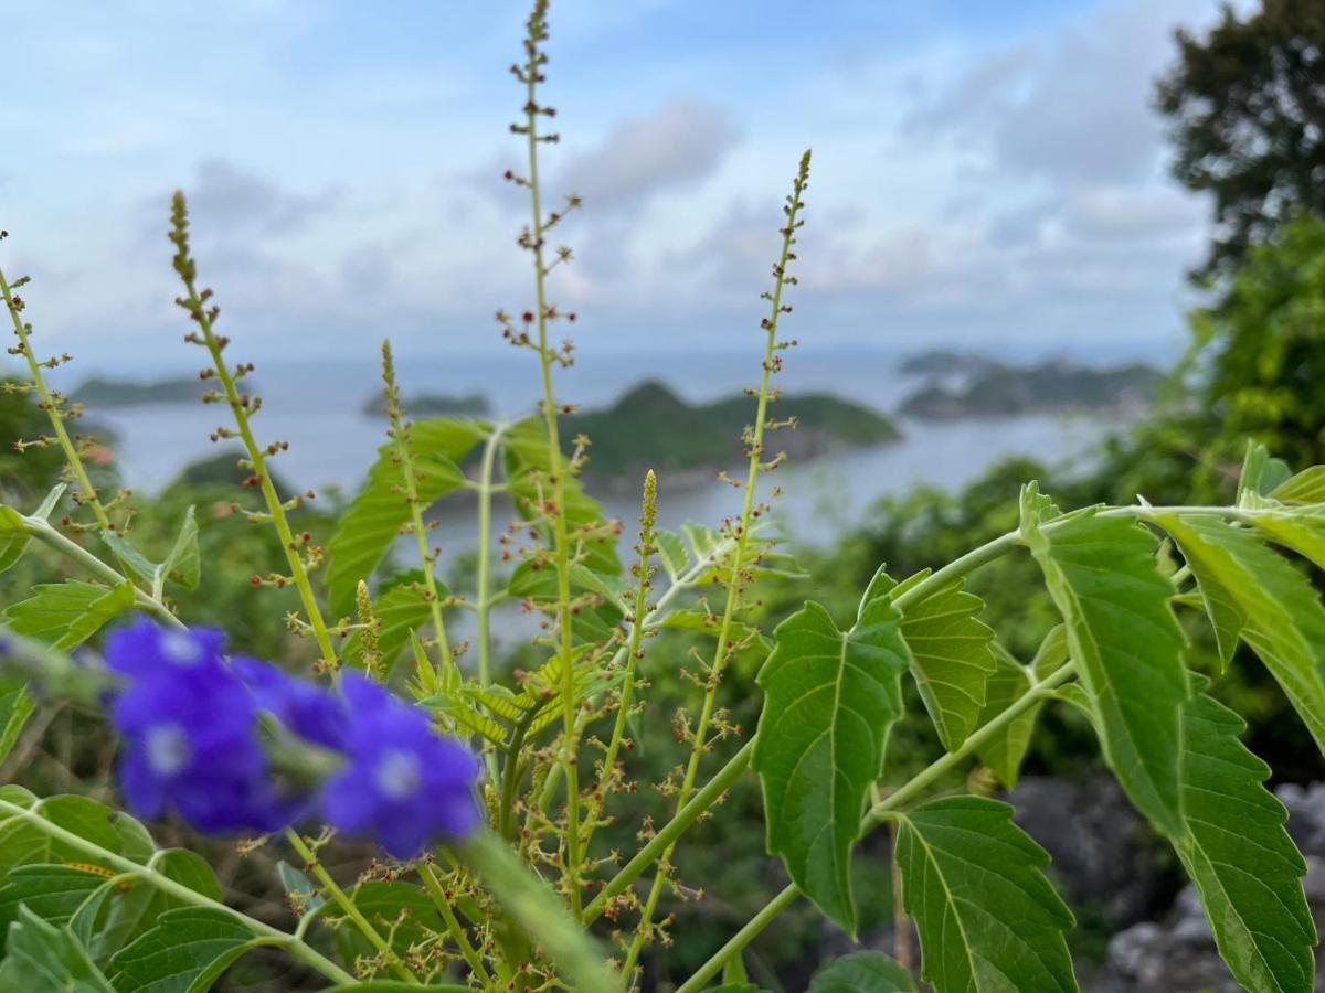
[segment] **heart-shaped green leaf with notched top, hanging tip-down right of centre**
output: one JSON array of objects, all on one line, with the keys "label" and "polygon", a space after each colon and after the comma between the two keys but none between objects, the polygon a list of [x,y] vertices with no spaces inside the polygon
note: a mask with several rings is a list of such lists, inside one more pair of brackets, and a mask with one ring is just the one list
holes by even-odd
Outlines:
[{"label": "heart-shaped green leaf with notched top, hanging tip-down right of centre", "polygon": [[901,613],[885,597],[861,601],[839,630],[807,602],[774,630],[759,671],[765,691],[754,769],[763,784],[768,851],[811,900],[848,933],[856,929],[851,849],[888,732],[901,715],[909,651]]}]

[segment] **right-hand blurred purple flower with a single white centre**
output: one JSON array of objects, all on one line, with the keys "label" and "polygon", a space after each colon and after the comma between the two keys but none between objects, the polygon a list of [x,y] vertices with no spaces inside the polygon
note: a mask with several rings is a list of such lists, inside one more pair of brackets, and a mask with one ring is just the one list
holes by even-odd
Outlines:
[{"label": "right-hand blurred purple flower with a single white centre", "polygon": [[439,837],[460,838],[481,820],[474,798],[478,760],[441,737],[428,715],[358,673],[346,673],[350,720],[346,767],[322,788],[323,817],[371,834],[396,858]]}]

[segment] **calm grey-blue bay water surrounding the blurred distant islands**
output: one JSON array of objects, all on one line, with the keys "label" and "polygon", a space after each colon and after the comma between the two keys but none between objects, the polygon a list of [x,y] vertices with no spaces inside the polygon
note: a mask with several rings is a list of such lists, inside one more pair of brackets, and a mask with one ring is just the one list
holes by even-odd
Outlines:
[{"label": "calm grey-blue bay water surrounding the blurred distant islands", "polygon": [[[889,410],[912,389],[916,377],[897,372],[896,355],[859,351],[849,355],[794,355],[778,383],[788,393],[823,391]],[[600,406],[633,384],[640,369],[660,379],[685,399],[710,400],[730,395],[758,375],[758,367],[737,356],[670,356],[640,363],[611,356],[578,363],[560,375],[559,396]],[[262,367],[262,412],[254,420],[262,444],[281,440],[290,450],[276,461],[293,485],[352,494],[383,442],[383,418],[360,408],[378,388],[376,369],[367,363],[325,363],[309,367]],[[494,416],[519,417],[531,410],[537,376],[515,356],[466,357],[448,361],[400,363],[401,385],[413,392],[482,392]],[[792,408],[787,408],[788,412]],[[117,458],[130,486],[156,490],[189,462],[216,451],[207,436],[223,422],[224,408],[170,404],[99,409],[95,416],[119,434]],[[898,444],[831,453],[788,465],[772,478],[783,491],[775,512],[788,534],[823,543],[857,522],[878,496],[918,483],[958,487],[991,462],[1012,454],[1036,454],[1048,462],[1081,457],[1090,444],[1120,425],[1101,418],[1018,417],[992,421],[921,424],[902,421]],[[633,526],[639,515],[633,495],[598,494],[611,515]],[[718,482],[678,489],[660,481],[660,516],[665,526],[685,520],[717,524],[739,507],[739,494]],[[448,552],[472,543],[469,514],[443,515],[439,543]]]}]

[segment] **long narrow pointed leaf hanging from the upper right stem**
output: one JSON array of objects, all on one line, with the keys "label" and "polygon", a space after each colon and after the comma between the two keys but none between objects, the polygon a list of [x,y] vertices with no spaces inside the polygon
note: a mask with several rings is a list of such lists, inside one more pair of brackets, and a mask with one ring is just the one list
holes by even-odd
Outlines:
[{"label": "long narrow pointed leaf hanging from the upper right stem", "polygon": [[1105,760],[1137,809],[1182,831],[1178,756],[1190,696],[1173,614],[1173,584],[1155,565],[1158,539],[1125,518],[1094,512],[1041,528],[1023,519],[1097,715]]}]

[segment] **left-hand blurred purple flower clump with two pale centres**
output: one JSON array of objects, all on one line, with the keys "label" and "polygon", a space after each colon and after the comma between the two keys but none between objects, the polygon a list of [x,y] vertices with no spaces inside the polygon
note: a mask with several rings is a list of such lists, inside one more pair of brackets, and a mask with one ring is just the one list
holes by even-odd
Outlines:
[{"label": "left-hand blurred purple flower clump with two pale centres", "polygon": [[146,620],[110,636],[106,661],[129,678],[111,711],[125,736],[125,796],[143,817],[174,808],[201,831],[276,830],[297,804],[272,780],[253,694],[223,645],[220,632]]}]

